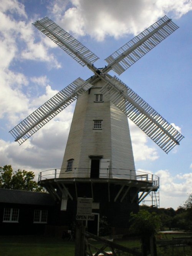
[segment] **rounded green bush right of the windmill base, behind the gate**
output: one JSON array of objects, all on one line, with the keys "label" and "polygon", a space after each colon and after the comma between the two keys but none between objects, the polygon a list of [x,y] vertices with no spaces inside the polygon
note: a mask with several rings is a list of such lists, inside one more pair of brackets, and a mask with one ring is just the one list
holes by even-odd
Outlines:
[{"label": "rounded green bush right of the windmill base, behind the gate", "polygon": [[149,213],[146,210],[140,210],[137,214],[131,213],[130,232],[144,237],[150,237],[157,233],[161,221],[156,213]]}]

